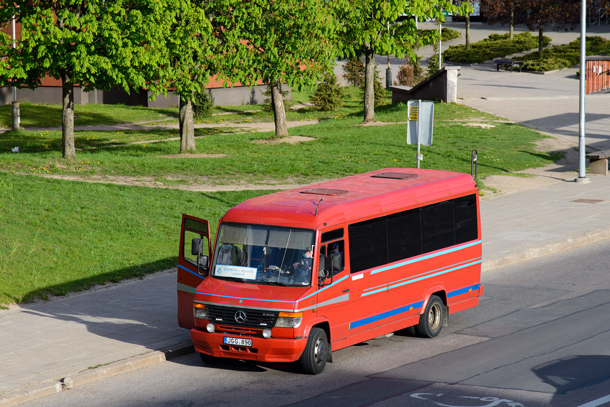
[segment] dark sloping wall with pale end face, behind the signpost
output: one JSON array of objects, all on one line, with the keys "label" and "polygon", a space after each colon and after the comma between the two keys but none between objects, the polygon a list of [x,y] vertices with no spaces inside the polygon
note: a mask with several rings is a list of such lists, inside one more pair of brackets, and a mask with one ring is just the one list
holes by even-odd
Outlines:
[{"label": "dark sloping wall with pale end face, behind the signpost", "polygon": [[455,102],[458,99],[458,75],[461,67],[444,67],[415,87],[390,86],[392,104],[409,100],[442,100]]}]

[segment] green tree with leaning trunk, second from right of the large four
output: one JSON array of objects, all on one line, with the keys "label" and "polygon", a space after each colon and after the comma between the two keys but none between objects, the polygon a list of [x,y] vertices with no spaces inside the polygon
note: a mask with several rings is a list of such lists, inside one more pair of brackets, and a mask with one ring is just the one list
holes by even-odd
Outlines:
[{"label": "green tree with leaning trunk, second from right of the large four", "polygon": [[335,62],[339,23],[331,6],[324,0],[235,0],[232,13],[218,18],[242,40],[234,47],[239,70],[226,71],[226,79],[270,85],[276,137],[288,135],[282,84],[312,85]]}]

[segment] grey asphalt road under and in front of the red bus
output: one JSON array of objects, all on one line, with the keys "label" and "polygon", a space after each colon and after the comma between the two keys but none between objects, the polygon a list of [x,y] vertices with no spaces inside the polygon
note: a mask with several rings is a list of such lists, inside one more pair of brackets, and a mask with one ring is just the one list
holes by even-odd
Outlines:
[{"label": "grey asphalt road under and in front of the red bus", "polygon": [[610,241],[484,273],[436,339],[397,333],[296,364],[187,355],[23,406],[610,406]]}]

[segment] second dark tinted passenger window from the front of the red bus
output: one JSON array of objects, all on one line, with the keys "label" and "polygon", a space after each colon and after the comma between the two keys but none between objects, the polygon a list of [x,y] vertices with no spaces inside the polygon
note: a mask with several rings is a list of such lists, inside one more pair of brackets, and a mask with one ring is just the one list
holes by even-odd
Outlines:
[{"label": "second dark tinted passenger window from the front of the red bus", "polygon": [[419,208],[388,215],[387,251],[390,263],[422,254]]}]

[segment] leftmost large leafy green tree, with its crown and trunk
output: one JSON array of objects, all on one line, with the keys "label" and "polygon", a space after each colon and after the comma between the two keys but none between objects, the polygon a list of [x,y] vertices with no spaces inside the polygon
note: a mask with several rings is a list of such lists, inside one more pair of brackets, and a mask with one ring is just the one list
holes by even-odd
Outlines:
[{"label": "leftmost large leafy green tree, with its crown and trunk", "polygon": [[62,156],[75,156],[74,87],[85,92],[145,88],[142,60],[159,60],[159,2],[141,0],[12,0],[0,7],[0,26],[15,15],[15,49],[0,37],[2,85],[35,88],[45,76],[62,81]]}]

